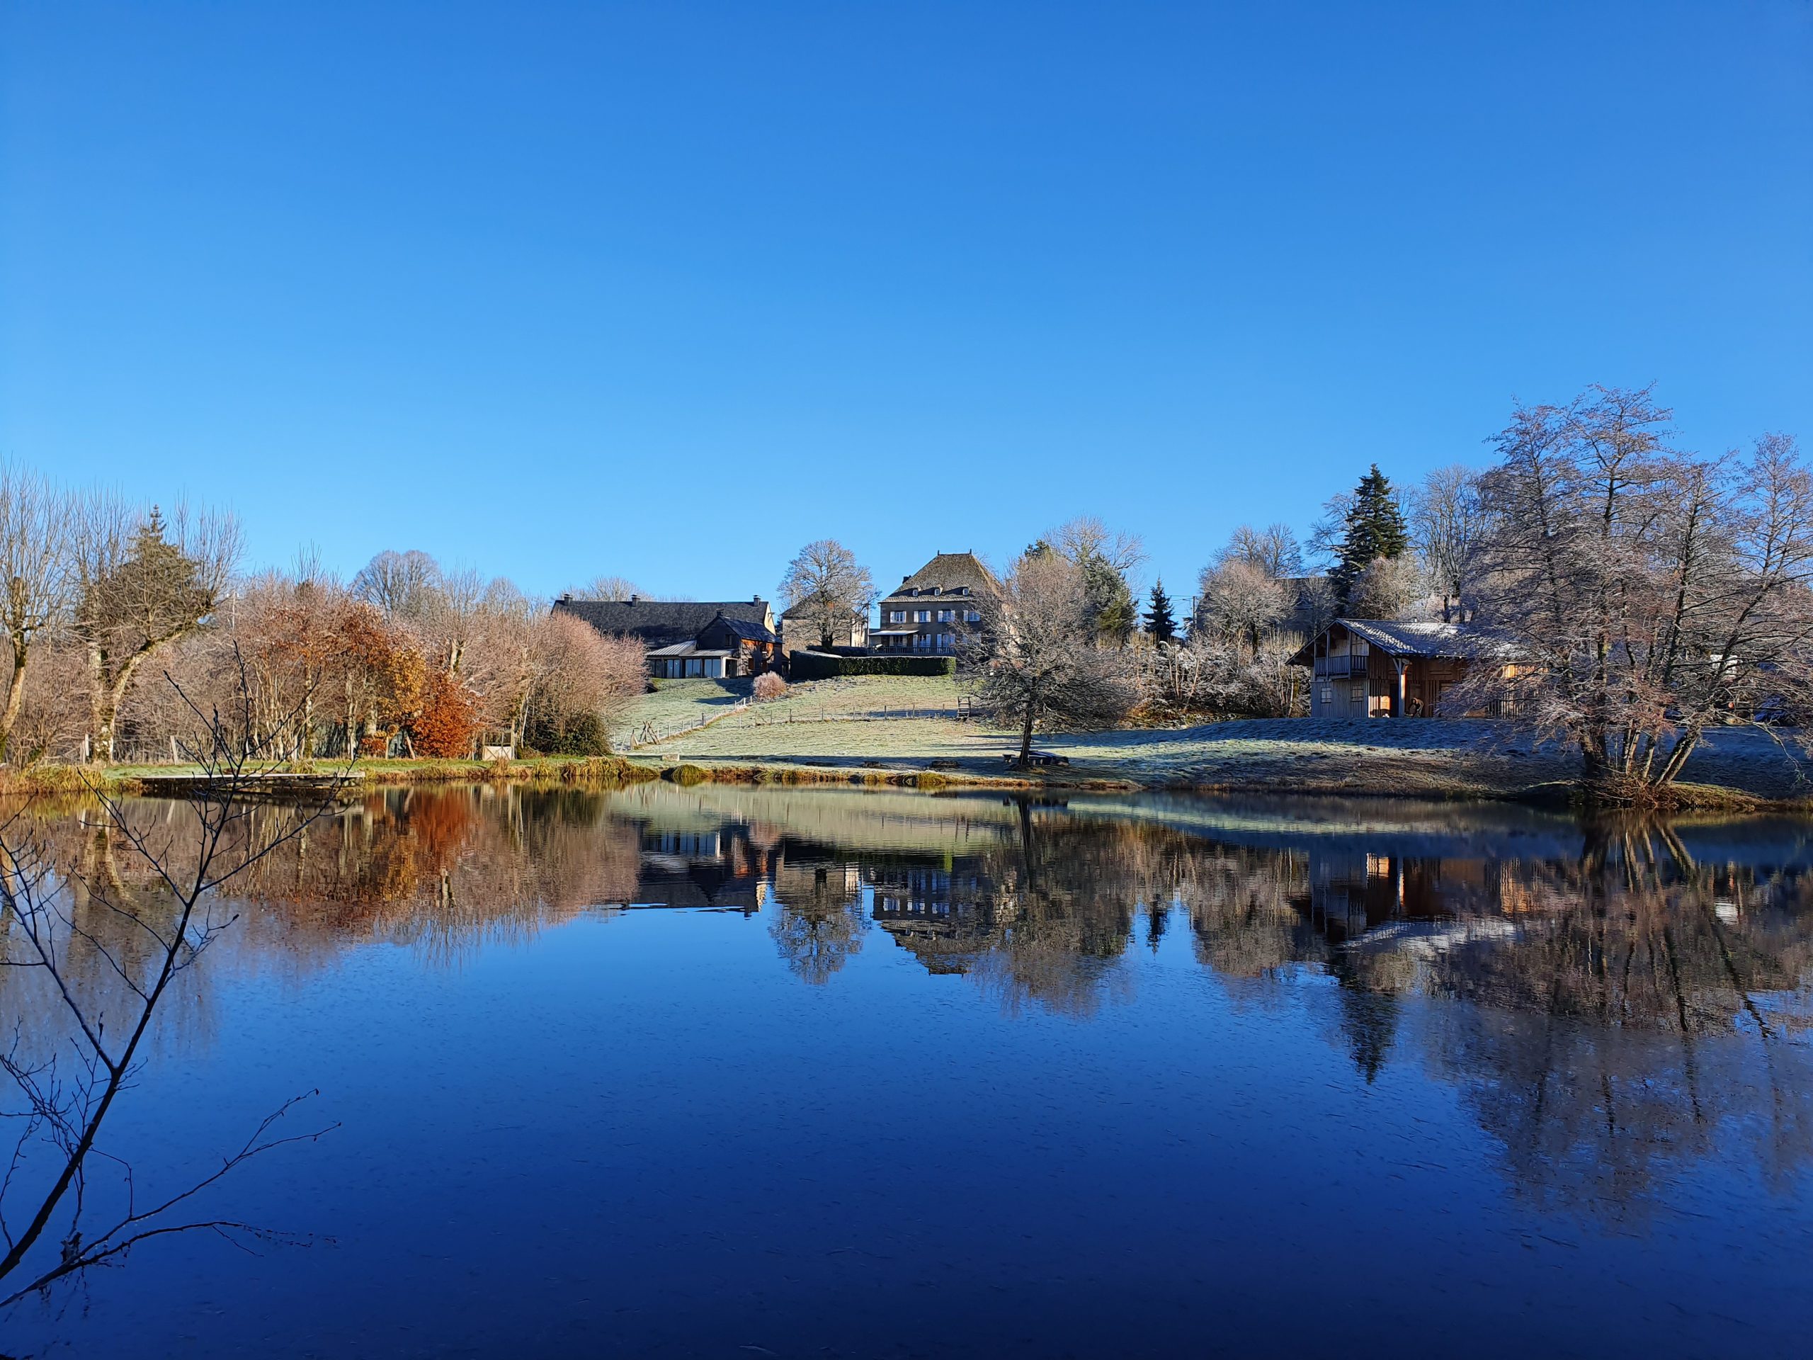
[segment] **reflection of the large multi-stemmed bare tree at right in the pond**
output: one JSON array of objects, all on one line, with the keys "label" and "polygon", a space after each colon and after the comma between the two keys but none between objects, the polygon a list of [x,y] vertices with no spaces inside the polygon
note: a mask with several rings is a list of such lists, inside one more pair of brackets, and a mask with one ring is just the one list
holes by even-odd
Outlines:
[{"label": "reflection of the large multi-stemmed bare tree at right in the pond", "polygon": [[[1697,1161],[1769,1179],[1813,1151],[1808,879],[1695,865],[1601,827],[1519,865],[1517,932],[1432,961],[1438,1064],[1545,1202],[1630,1206]],[[1798,1041],[1795,1041],[1798,1035]]]}]

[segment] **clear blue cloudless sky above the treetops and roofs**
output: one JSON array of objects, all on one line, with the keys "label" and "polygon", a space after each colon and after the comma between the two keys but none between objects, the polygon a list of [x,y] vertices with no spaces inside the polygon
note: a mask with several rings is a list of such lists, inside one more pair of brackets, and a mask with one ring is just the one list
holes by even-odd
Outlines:
[{"label": "clear blue cloudless sky above the treetops and roofs", "polygon": [[13,0],[0,453],[553,593],[1813,442],[1813,5]]}]

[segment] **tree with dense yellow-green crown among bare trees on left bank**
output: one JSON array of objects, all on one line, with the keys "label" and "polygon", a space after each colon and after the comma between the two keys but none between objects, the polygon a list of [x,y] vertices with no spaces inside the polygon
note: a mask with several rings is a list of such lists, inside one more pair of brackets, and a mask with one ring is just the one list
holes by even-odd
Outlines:
[{"label": "tree with dense yellow-green crown among bare trees on left bank", "polygon": [[89,660],[89,738],[114,756],[120,700],[140,665],[199,629],[221,602],[239,560],[230,515],[178,506],[138,513],[111,495],[82,500],[71,533],[73,633]]}]

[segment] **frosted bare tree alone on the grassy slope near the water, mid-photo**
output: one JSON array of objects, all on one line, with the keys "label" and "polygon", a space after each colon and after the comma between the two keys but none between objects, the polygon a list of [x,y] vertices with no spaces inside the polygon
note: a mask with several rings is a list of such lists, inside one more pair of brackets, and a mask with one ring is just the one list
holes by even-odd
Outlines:
[{"label": "frosted bare tree alone on the grassy slope near the water, mid-photo", "polygon": [[966,647],[975,704],[1021,729],[1021,765],[1035,727],[1117,722],[1139,700],[1126,655],[1090,642],[1088,584],[1059,553],[1013,564]]}]

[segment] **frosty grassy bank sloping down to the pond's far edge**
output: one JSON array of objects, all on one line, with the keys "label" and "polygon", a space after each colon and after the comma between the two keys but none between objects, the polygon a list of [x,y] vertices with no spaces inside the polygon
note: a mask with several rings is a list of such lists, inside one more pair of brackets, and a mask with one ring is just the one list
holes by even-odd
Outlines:
[{"label": "frosty grassy bank sloping down to the pond's far edge", "polygon": [[[1566,798],[1574,758],[1525,733],[1479,720],[1218,722],[1184,729],[1053,733],[1039,747],[1066,765],[1019,771],[1003,760],[1012,734],[963,716],[948,676],[854,676],[800,684],[772,704],[740,702],[747,682],[664,684],[631,709],[618,733],[624,756],[517,762],[361,762],[364,787],[509,780],[622,787],[680,783],[859,783],[937,789],[1211,789],[1224,792],[1363,794],[1407,798]],[[662,734],[667,733],[667,734]],[[317,769],[328,771],[328,763]],[[42,767],[0,776],[0,792],[80,792],[83,776],[132,791],[174,767],[78,771]],[[1808,771],[1764,733],[1710,734],[1686,771],[1679,803],[1804,805]]]}]

